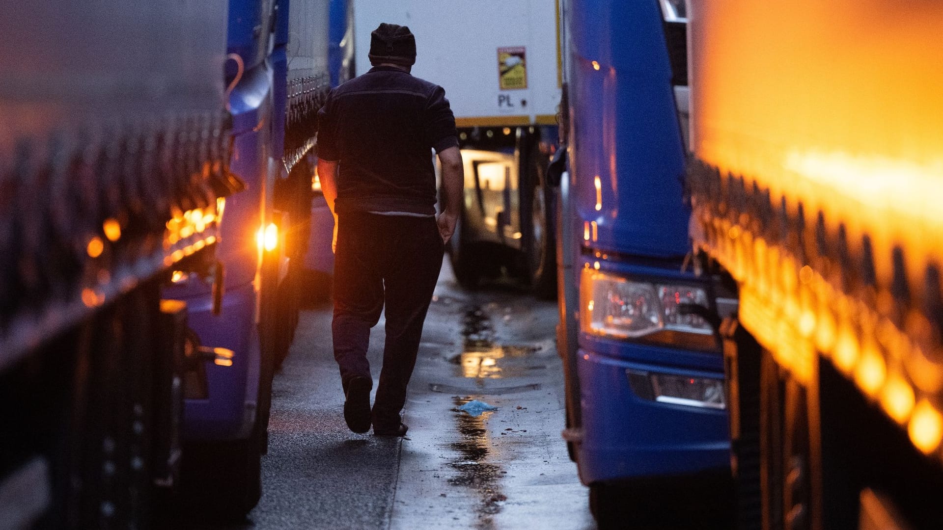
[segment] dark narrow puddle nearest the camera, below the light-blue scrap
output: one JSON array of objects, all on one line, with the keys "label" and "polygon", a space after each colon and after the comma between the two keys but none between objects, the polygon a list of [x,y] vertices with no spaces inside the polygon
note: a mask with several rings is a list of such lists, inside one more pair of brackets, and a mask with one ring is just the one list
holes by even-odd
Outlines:
[{"label": "dark narrow puddle nearest the camera, below the light-blue scrap", "polygon": [[[471,398],[455,397],[455,406],[463,406],[469,401]],[[475,528],[478,530],[494,528],[491,516],[500,512],[507,500],[500,485],[505,471],[500,465],[488,462],[488,455],[493,449],[485,421],[488,414],[469,416],[464,412],[455,413],[461,440],[451,445],[458,452],[458,457],[449,464],[457,472],[449,479],[449,484],[474,490],[480,500],[475,508]]]}]

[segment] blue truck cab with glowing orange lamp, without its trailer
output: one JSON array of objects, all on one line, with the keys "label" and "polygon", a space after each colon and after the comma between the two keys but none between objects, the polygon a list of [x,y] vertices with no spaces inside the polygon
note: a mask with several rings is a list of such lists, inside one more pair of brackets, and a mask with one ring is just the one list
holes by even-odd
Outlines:
[{"label": "blue truck cab with glowing orange lamp, without its trailer", "polygon": [[[286,331],[267,316],[277,305],[285,261],[273,208],[286,98],[284,53],[275,53],[279,15],[288,10],[279,13],[273,0],[229,2],[229,170],[243,190],[218,204],[212,273],[174,273],[163,292],[187,303],[189,353],[198,359],[183,381],[182,499],[194,511],[223,517],[244,515],[261,494],[273,344]],[[222,293],[211,289],[214,277],[222,278]]]}]

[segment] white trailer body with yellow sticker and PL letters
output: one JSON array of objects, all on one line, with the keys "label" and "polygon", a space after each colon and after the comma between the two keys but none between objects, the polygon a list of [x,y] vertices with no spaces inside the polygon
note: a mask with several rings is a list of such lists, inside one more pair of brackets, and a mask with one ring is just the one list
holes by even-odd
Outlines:
[{"label": "white trailer body with yellow sticker and PL letters", "polygon": [[555,124],[556,0],[356,0],[356,73],[371,68],[380,23],[416,35],[413,75],[445,89],[459,127]]}]

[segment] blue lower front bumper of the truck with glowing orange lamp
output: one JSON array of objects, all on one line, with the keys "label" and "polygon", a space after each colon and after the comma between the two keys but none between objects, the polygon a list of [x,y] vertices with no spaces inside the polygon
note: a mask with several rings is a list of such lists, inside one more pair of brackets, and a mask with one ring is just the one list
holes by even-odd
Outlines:
[{"label": "blue lower front bumper of the truck with glowing orange lamp", "polygon": [[190,328],[211,347],[233,351],[232,366],[205,364],[207,399],[184,401],[185,439],[244,439],[256,419],[259,377],[259,342],[256,326],[256,290],[253,284],[227,290],[223,312],[213,316],[209,295],[185,300]]}]

